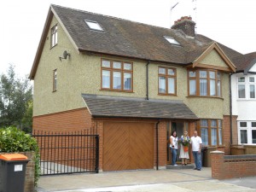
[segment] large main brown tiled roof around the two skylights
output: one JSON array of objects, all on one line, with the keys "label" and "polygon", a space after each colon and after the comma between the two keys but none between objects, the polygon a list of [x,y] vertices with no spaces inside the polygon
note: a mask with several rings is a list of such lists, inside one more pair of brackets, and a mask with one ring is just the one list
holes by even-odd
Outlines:
[{"label": "large main brown tiled roof around the two skylights", "polygon": [[[56,5],[51,5],[51,7],[80,51],[187,64],[195,61],[203,49],[206,49],[206,46],[212,42],[212,39],[202,35],[188,38],[179,30],[150,26]],[[90,30],[84,20],[98,22],[104,32]],[[181,46],[170,44],[164,36],[175,38]],[[220,47],[230,58],[234,55],[241,55],[224,45],[220,44]],[[196,54],[188,54],[193,51]]]}]

